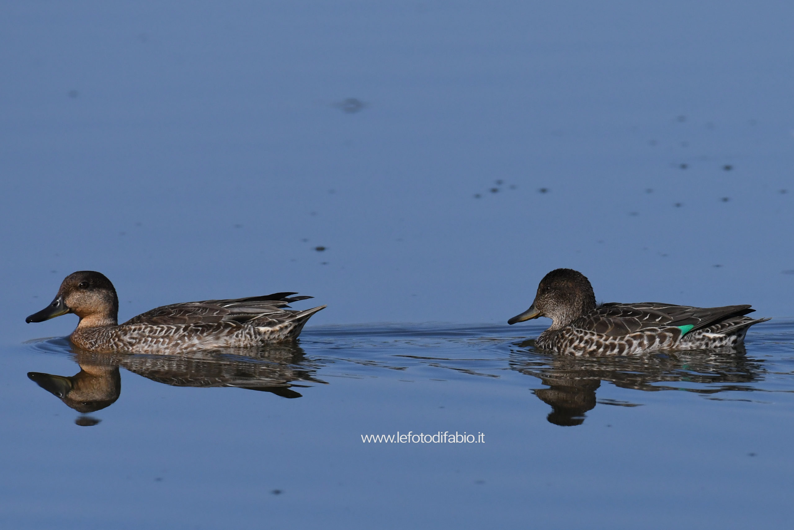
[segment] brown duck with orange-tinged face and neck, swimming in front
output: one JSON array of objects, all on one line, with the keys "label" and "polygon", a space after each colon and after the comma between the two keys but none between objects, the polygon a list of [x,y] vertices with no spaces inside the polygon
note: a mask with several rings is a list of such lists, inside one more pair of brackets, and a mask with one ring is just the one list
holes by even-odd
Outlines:
[{"label": "brown duck with orange-tinged face and neck, swimming in front", "polygon": [[74,313],[80,320],[69,340],[80,350],[97,353],[180,354],[251,347],[295,341],[311,315],[326,308],[287,309],[311,298],[295,294],[170,304],[119,324],[116,288],[104,274],[82,270],[64,278],[52,303],[25,322]]}]

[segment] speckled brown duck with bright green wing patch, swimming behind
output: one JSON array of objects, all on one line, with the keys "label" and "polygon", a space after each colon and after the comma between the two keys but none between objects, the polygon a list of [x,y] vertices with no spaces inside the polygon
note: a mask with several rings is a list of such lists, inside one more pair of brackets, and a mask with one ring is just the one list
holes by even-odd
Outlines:
[{"label": "speckled brown duck with bright green wing patch, swimming behind", "polygon": [[596,304],[584,274],[554,269],[541,280],[530,308],[507,323],[541,316],[551,319],[535,346],[554,354],[632,355],[737,346],[750,326],[769,320],[746,316],[754,311],[746,304],[723,308],[657,302]]}]

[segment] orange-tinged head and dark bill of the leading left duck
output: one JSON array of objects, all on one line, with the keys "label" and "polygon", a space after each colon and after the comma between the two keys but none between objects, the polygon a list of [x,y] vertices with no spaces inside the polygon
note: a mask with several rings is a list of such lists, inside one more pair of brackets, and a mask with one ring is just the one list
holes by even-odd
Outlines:
[{"label": "orange-tinged head and dark bill of the leading left duck", "polygon": [[118,323],[118,296],[113,284],[104,274],[92,270],[71,273],[60,284],[55,300],[41,311],[30,315],[25,322],[44,322],[56,316],[74,313],[80,324],[108,326]]}]

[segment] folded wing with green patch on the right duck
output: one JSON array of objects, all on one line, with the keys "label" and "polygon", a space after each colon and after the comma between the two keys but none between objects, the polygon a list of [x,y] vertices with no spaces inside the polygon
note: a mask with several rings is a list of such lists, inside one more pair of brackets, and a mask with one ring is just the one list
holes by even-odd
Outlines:
[{"label": "folded wing with green patch on the right duck", "polygon": [[640,304],[601,304],[572,325],[602,335],[620,337],[649,328],[678,327],[682,335],[734,316],[755,311],[750,305],[723,308],[692,308],[685,305],[642,302]]}]

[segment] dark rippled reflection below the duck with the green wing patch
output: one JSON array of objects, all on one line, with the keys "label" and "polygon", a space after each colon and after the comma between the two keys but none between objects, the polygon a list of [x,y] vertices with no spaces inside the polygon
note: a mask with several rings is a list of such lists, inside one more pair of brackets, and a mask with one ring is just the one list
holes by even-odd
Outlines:
[{"label": "dark rippled reflection below the duck with the green wing patch", "polygon": [[[518,344],[511,352],[511,369],[538,377],[548,389],[533,393],[551,405],[549,423],[572,427],[584,423],[585,412],[596,404],[636,407],[616,400],[597,400],[602,381],[623,389],[657,392],[684,390],[715,394],[727,390],[750,391],[742,385],[760,381],[765,370],[761,361],[746,357],[744,346],[716,350],[667,351],[645,356],[581,358],[534,352],[534,341]],[[697,388],[664,383],[685,382]]]}]

